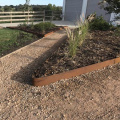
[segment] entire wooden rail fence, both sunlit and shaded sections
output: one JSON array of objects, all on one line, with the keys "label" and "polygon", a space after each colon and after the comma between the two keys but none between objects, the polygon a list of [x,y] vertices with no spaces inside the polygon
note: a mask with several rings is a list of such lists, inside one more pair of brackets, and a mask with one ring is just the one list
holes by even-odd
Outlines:
[{"label": "entire wooden rail fence, both sunlit and shaded sections", "polygon": [[61,13],[57,11],[11,11],[0,12],[0,23],[32,22],[45,20],[60,20]]}]

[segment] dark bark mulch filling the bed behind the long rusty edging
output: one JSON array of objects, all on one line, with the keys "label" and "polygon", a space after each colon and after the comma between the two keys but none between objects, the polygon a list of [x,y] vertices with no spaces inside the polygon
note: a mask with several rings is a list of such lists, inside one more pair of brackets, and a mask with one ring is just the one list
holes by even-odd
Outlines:
[{"label": "dark bark mulch filling the bed behind the long rusty edging", "polygon": [[92,31],[74,58],[69,56],[66,40],[44,64],[38,66],[34,77],[45,77],[120,57],[120,36],[114,31]]}]

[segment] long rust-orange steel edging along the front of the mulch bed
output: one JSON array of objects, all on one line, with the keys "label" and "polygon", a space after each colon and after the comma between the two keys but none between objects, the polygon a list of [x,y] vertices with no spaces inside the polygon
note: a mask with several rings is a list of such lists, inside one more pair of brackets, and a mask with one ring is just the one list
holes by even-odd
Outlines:
[{"label": "long rust-orange steel edging along the front of the mulch bed", "polygon": [[82,67],[82,68],[78,68],[78,69],[74,69],[74,70],[70,70],[64,73],[60,73],[60,74],[54,74],[51,76],[47,76],[47,77],[41,77],[41,78],[33,78],[33,85],[34,86],[44,86],[44,85],[49,85],[51,83],[54,83],[56,81],[59,81],[61,79],[68,79],[68,78],[72,78],[75,76],[79,76],[94,70],[98,70],[98,69],[102,69],[104,67],[107,67],[109,65],[113,65],[113,64],[117,64],[120,63],[120,58],[115,58],[112,60],[107,60],[101,63],[97,63],[97,64],[92,64],[86,67]]}]

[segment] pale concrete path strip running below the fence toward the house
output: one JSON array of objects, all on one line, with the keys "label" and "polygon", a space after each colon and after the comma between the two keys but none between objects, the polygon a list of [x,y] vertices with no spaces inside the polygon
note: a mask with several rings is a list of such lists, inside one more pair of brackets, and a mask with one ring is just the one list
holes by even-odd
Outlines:
[{"label": "pale concrete path strip running below the fence toward the house", "polygon": [[[34,22],[33,24],[37,24],[39,22]],[[70,21],[52,21],[52,23],[54,23],[56,26],[68,26],[71,28],[76,27],[76,24],[74,22],[70,22]],[[11,27],[11,26],[18,26],[19,24],[23,24],[23,23],[2,23],[0,24],[1,27]],[[31,23],[29,23],[31,24]]]}]

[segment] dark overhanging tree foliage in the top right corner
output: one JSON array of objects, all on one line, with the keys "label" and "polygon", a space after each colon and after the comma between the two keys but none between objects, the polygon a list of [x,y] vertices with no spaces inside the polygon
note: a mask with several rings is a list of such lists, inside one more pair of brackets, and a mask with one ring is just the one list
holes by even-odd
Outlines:
[{"label": "dark overhanging tree foliage in the top right corner", "polygon": [[[102,0],[99,4],[108,13],[115,13],[115,14],[120,13],[120,0]],[[117,16],[117,19],[119,18],[120,18],[120,14],[119,16]]]}]

